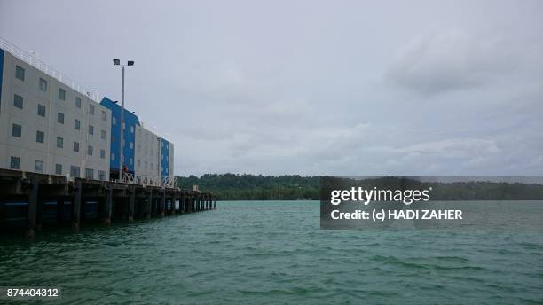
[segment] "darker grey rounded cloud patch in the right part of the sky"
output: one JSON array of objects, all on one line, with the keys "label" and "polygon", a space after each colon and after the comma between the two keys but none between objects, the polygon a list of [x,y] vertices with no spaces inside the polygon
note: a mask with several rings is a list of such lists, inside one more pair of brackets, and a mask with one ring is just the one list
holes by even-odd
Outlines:
[{"label": "darker grey rounded cloud patch in the right part of the sky", "polygon": [[519,61],[510,43],[464,30],[419,35],[397,51],[385,77],[423,95],[488,85]]}]

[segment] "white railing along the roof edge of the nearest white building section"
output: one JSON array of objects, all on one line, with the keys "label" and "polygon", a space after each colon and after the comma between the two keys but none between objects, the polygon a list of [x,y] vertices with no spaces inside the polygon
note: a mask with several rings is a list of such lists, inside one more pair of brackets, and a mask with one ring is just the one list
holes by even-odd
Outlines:
[{"label": "white railing along the roof edge of the nearest white building section", "polygon": [[62,82],[71,89],[76,90],[77,92],[93,99],[95,102],[98,102],[98,92],[96,90],[87,90],[85,87],[75,82],[73,79],[67,77],[67,75],[61,74],[52,66],[45,64],[40,59],[36,59],[35,56],[28,53],[27,51],[23,51],[15,44],[5,40],[3,37],[0,37],[0,48],[4,49],[4,51],[10,52],[14,57],[26,62],[28,65],[34,66],[36,69],[42,71],[43,73],[56,78],[59,82]]}]

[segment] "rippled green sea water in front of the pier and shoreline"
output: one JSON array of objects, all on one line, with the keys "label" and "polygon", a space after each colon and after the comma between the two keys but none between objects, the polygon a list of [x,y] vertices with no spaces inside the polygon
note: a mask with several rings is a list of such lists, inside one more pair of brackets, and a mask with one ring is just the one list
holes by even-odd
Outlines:
[{"label": "rippled green sea water in front of the pier and shoreline", "polygon": [[319,202],[2,239],[0,286],[44,303],[543,303],[541,231],[324,231]]}]

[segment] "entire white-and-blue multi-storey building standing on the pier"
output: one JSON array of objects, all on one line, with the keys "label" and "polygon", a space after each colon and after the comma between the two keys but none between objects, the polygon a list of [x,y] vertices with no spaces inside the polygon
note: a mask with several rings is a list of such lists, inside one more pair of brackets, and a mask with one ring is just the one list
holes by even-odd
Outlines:
[{"label": "entire white-and-blue multi-storey building standing on the pier", "polygon": [[110,180],[119,178],[122,165],[131,181],[164,184],[173,178],[173,144],[127,109],[121,137],[116,101],[98,103],[1,38],[0,72],[0,168]]}]

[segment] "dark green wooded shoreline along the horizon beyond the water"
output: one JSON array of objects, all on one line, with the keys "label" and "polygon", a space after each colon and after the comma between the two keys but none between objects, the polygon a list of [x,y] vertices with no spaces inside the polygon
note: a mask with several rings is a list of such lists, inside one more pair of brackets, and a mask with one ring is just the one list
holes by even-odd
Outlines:
[{"label": "dark green wooded shoreline along the horizon beyond the water", "polygon": [[[347,179],[348,180],[348,179]],[[326,182],[327,180],[325,180]],[[349,185],[349,181],[345,181]],[[177,176],[177,185],[213,192],[219,200],[319,200],[320,176],[250,174],[205,174]],[[361,184],[364,185],[364,184]],[[326,185],[325,185],[326,186]],[[424,183],[411,178],[383,177],[366,180],[367,187],[424,189],[432,187],[434,200],[543,200],[543,185],[495,182]],[[327,187],[324,187],[327,189]]]}]

